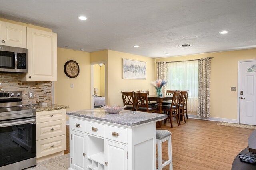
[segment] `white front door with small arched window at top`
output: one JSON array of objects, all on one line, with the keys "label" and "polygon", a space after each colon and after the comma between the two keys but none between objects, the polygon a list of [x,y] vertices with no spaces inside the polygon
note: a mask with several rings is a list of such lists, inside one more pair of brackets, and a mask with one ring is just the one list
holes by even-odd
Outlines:
[{"label": "white front door with small arched window at top", "polygon": [[240,62],[239,123],[256,125],[256,61]]}]

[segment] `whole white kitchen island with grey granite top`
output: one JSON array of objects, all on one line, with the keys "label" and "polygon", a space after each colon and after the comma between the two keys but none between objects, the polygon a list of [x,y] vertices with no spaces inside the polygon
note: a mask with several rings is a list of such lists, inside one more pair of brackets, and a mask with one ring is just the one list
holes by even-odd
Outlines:
[{"label": "whole white kitchen island with grey granite top", "polygon": [[156,168],[156,122],[167,115],[122,110],[67,112],[70,168],[126,170]]}]

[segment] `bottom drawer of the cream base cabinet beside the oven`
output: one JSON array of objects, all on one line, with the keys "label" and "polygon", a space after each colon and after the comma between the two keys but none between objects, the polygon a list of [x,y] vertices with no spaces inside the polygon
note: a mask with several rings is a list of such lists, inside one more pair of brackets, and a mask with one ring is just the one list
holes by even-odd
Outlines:
[{"label": "bottom drawer of the cream base cabinet beside the oven", "polygon": [[36,141],[36,158],[66,150],[66,135]]}]

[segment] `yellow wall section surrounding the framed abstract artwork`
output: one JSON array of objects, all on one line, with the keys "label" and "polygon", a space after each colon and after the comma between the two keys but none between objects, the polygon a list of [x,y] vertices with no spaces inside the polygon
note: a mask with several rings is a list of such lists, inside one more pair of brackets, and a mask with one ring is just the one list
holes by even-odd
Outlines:
[{"label": "yellow wall section surrounding the framed abstract artwork", "polygon": [[[122,59],[145,61],[147,67],[146,79],[123,79]],[[154,87],[150,84],[155,80],[155,59],[108,50],[108,105],[123,106],[121,91],[149,90],[155,94]]]}]

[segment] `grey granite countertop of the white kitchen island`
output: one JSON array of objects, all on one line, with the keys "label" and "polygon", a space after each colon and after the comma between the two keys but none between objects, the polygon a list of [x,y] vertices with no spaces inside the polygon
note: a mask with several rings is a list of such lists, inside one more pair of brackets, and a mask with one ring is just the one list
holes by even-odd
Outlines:
[{"label": "grey granite countertop of the white kitchen island", "polygon": [[79,110],[73,112],[66,112],[66,114],[110,123],[117,123],[120,125],[127,125],[130,127],[143,123],[157,121],[167,117],[167,115],[159,113],[147,113],[129,110],[122,110],[119,113],[106,113],[104,109]]}]

